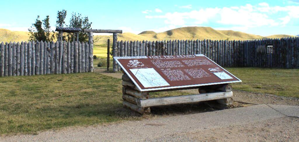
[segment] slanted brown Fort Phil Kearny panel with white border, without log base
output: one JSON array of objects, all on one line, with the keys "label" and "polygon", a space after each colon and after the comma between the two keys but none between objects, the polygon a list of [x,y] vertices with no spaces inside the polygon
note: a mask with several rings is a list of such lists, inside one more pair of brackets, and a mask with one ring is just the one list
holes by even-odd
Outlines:
[{"label": "slanted brown Fort Phil Kearny panel with white border, without log base", "polygon": [[114,59],[139,91],[242,82],[203,54]]}]

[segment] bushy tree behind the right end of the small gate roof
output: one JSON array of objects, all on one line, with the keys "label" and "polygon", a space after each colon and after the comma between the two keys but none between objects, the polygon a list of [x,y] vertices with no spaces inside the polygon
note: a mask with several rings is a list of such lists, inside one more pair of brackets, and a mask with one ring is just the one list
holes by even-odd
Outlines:
[{"label": "bushy tree behind the right end of the small gate roof", "polygon": [[[90,29],[92,22],[89,23],[88,16],[82,17],[80,13],[72,13],[72,17],[70,19],[70,24],[68,27],[73,28],[81,28],[81,29]],[[68,41],[72,41],[74,34],[68,34]],[[79,41],[87,42],[88,41],[88,33],[79,33]]]}]

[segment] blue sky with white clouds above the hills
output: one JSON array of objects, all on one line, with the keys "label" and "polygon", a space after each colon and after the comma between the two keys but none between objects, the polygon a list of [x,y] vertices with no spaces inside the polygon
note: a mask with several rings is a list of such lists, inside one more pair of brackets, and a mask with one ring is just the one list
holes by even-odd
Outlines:
[{"label": "blue sky with white clouds above the hills", "polygon": [[120,29],[140,33],[163,32],[186,26],[205,26],[268,36],[299,34],[299,0],[246,1],[1,1],[0,28],[23,30],[36,16],[50,16],[54,28],[57,10],[88,16],[94,29]]}]

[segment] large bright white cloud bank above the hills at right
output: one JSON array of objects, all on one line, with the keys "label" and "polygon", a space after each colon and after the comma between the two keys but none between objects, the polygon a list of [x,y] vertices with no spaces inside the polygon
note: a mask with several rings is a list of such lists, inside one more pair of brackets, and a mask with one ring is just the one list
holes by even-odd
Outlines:
[{"label": "large bright white cloud bank above the hills at right", "polygon": [[[191,5],[190,5],[191,7]],[[282,12],[281,18],[273,18],[272,14]],[[258,5],[245,4],[239,7],[205,8],[189,12],[173,12],[164,15],[146,16],[146,18],[164,19],[168,25],[203,24],[208,22],[232,25],[234,28],[248,29],[260,26],[286,25],[293,18],[299,18],[299,6],[269,6],[262,2]],[[190,22],[191,21],[191,22]]]}]

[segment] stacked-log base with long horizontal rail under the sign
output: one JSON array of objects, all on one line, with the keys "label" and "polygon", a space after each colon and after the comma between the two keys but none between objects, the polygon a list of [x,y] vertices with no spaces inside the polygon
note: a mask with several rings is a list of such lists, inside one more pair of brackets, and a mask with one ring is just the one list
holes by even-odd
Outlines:
[{"label": "stacked-log base with long horizontal rail under the sign", "polygon": [[135,84],[128,75],[122,76],[123,85],[123,106],[140,114],[149,114],[152,106],[166,106],[183,103],[196,103],[202,101],[216,100],[215,108],[223,109],[232,105],[233,92],[231,85],[211,85],[199,88],[200,94],[149,98],[149,92],[138,91]]}]

